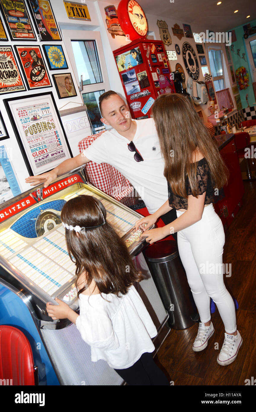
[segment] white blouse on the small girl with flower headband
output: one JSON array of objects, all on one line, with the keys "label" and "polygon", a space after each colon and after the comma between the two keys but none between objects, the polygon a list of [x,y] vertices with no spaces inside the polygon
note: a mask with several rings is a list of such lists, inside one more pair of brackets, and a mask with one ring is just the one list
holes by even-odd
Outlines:
[{"label": "white blouse on the small girl with flower headband", "polygon": [[114,369],[132,366],[142,353],[153,352],[156,327],[134,286],[126,295],[79,295],[76,325],[91,346],[91,360],[107,361]]}]

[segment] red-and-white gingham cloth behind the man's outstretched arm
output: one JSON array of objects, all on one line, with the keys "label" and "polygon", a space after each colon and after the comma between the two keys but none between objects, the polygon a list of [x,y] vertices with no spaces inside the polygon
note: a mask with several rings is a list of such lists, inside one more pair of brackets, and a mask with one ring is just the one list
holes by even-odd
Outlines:
[{"label": "red-and-white gingham cloth behind the man's outstretched arm", "polygon": [[[79,152],[83,152],[102,133],[105,133],[105,131],[87,136],[81,140],[78,144]],[[102,192],[109,194],[116,200],[120,200],[133,192],[133,186],[129,180],[110,164],[89,162],[86,164],[86,173],[93,186],[98,187]]]}]

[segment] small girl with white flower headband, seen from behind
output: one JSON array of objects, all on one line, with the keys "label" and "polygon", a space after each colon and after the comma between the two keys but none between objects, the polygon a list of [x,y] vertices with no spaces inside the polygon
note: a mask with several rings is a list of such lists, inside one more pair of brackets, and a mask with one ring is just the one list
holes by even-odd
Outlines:
[{"label": "small girl with white flower headband, seen from behind", "polygon": [[61,220],[76,265],[80,315],[56,298],[58,305],[47,303],[49,316],[75,323],[91,345],[91,360],[104,359],[127,384],[169,385],[151,354],[156,327],[133,286],[144,278],[107,222],[104,206],[78,196],[64,205]]}]

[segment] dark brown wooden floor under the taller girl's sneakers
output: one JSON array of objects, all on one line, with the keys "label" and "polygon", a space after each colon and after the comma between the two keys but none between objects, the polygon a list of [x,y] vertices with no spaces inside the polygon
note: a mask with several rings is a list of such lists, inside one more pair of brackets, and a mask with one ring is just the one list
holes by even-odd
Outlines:
[{"label": "dark brown wooden floor under the taller girl's sneakers", "polygon": [[[198,323],[184,330],[172,329],[156,363],[175,386],[244,385],[245,379],[256,379],[256,180],[244,181],[244,189],[243,206],[226,232],[223,254],[223,263],[232,264],[232,274],[224,281],[239,304],[237,329],[243,344],[233,363],[220,366],[216,362],[224,339],[218,309],[212,314],[214,335],[201,352],[192,350]],[[219,350],[214,349],[215,342]]]}]

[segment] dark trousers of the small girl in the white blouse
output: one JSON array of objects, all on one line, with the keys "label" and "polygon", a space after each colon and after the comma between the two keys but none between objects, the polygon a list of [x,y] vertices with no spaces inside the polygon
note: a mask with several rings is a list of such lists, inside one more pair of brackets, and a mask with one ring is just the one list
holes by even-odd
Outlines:
[{"label": "dark trousers of the small girl in the white blouse", "polygon": [[170,385],[165,374],[156,366],[152,353],[143,353],[130,368],[115,369],[115,371],[128,385]]}]

